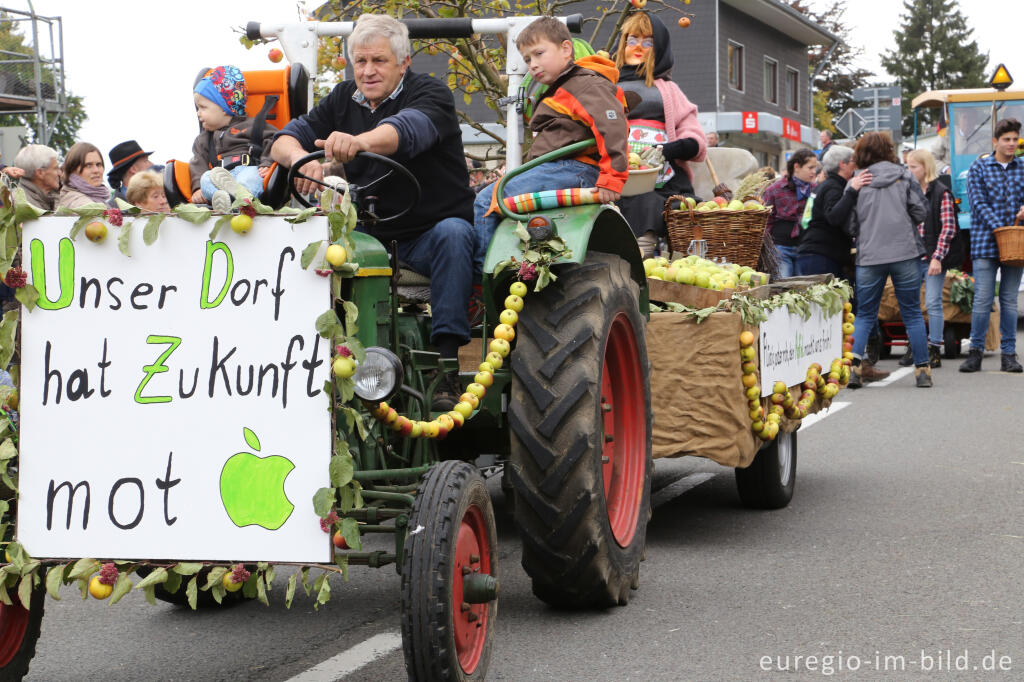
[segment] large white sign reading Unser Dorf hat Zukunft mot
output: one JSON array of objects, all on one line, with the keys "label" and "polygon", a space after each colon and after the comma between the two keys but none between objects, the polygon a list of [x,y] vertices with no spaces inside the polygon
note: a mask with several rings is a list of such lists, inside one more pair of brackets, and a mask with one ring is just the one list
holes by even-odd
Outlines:
[{"label": "large white sign reading Unser Dorf hat Zukunft mot", "polygon": [[[125,218],[125,222],[131,218]],[[329,280],[299,265],[326,218],[145,218],[94,244],[29,221],[17,537],[34,557],[330,560]],[[45,285],[43,284],[45,282]]]}]

